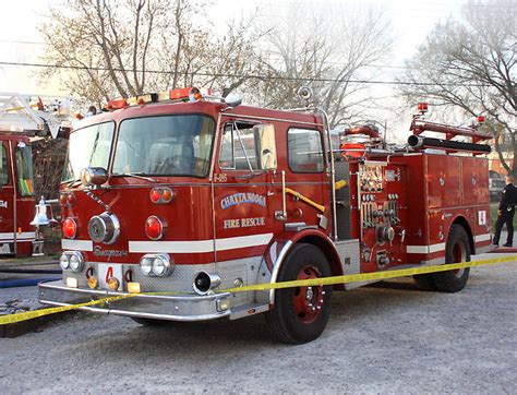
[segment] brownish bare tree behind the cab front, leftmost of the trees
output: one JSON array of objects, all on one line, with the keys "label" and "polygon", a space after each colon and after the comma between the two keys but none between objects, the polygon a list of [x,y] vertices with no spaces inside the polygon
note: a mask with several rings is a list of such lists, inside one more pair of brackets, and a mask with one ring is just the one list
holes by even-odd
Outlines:
[{"label": "brownish bare tree behind the cab front, leftmost of the trees", "polygon": [[[40,26],[47,46],[45,75],[83,98],[103,103],[113,96],[135,96],[167,87],[208,83],[236,88],[242,74],[260,68],[256,37],[244,26],[225,35],[192,21],[206,1],[194,0],[67,0],[50,10]],[[233,27],[233,26],[232,26]],[[216,70],[217,59],[230,67]],[[240,67],[230,60],[238,59]],[[220,65],[220,64],[219,64]]]}]

